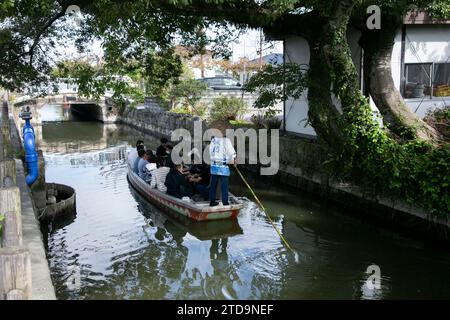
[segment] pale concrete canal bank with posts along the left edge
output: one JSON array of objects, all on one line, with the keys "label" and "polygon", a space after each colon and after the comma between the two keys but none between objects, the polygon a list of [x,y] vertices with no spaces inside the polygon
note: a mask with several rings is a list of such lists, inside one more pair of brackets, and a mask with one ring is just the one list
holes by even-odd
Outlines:
[{"label": "pale concrete canal bank with posts along the left edge", "polygon": [[25,183],[21,142],[8,107],[2,107],[0,214],[5,216],[0,247],[0,300],[54,300],[36,206]]}]

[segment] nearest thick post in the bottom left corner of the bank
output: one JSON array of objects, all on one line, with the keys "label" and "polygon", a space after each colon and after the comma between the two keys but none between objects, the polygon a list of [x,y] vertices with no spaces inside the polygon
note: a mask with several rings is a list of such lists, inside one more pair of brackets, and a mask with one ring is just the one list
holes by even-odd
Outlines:
[{"label": "nearest thick post in the bottom left corner of the bank", "polygon": [[23,247],[0,249],[0,300],[31,298],[30,253]]}]

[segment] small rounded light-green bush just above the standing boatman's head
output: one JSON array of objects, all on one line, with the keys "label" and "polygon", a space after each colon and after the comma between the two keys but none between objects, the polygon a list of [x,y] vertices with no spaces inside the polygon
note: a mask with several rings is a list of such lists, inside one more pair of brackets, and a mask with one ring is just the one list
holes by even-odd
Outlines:
[{"label": "small rounded light-green bush just above the standing boatman's head", "polygon": [[221,96],[213,100],[209,110],[209,120],[236,120],[246,111],[247,107],[242,99]]}]

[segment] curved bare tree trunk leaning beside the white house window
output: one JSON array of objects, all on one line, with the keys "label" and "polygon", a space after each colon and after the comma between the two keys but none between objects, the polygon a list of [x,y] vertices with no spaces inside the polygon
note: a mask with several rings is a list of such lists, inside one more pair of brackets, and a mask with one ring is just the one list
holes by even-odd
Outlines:
[{"label": "curved bare tree trunk leaning beside the white house window", "polygon": [[384,125],[396,138],[435,143],[439,134],[405,104],[392,79],[394,37],[403,20],[384,13],[381,23],[379,30],[365,29],[360,40],[364,49],[365,86],[383,116]]}]

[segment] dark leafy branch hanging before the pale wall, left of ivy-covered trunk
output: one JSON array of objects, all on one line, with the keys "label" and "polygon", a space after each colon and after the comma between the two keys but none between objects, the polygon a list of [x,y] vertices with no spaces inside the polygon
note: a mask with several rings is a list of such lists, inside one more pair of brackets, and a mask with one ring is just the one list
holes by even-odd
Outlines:
[{"label": "dark leafy branch hanging before the pale wall, left of ivy-covered trunk", "polygon": [[284,66],[266,65],[249,79],[244,90],[258,95],[254,103],[256,108],[274,107],[289,97],[300,98],[307,85],[306,71],[304,66],[297,63],[286,63]]}]

